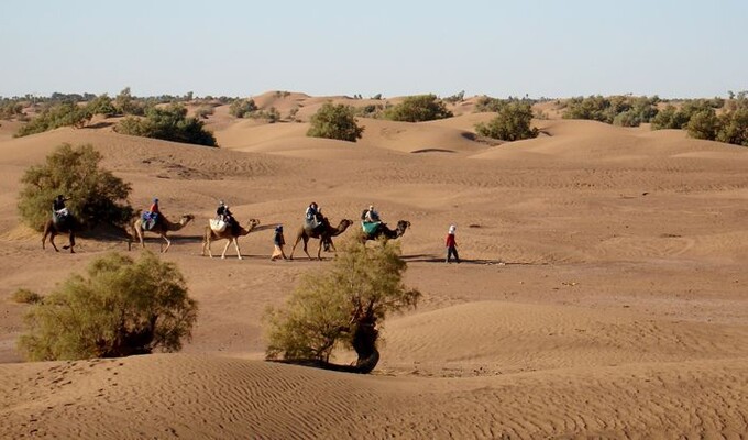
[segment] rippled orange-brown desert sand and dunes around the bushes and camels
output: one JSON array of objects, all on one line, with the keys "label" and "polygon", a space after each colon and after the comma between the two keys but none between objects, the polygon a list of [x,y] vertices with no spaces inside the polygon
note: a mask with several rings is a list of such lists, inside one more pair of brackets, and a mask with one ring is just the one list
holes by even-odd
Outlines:
[{"label": "rippled orange-brown desert sand and dunes around the bushes and camels", "polygon": [[[441,121],[360,119],[355,144],[306,138],[328,99],[369,103],[255,97],[284,116],[299,107],[300,121],[275,124],[219,107],[207,123],[220,148],[124,136],[107,121],[21,139],[0,127],[0,437],[748,436],[748,150],[548,108],[537,139],[479,142],[473,125],[492,114],[470,100]],[[30,306],[13,292],[48,293],[128,252],[116,235],[79,239],[76,254],[43,251],[21,226],[20,178],[63,142],[99,150],[132,184],[133,206],[155,196],[169,218],[196,216],[163,254],[199,301],[183,352],[24,363],[16,351]],[[240,239],[244,260],[233,248],[200,256],[220,199],[241,222],[262,221]],[[290,252],[312,200],[334,224],[370,204],[391,226],[411,222],[399,239],[406,284],[424,298],[384,322],[371,375],[263,361],[265,308],[332,258],[297,249],[294,261],[268,260],[273,227],[285,226]],[[450,224],[461,264],[443,261]],[[146,246],[157,251],[157,238]]]}]

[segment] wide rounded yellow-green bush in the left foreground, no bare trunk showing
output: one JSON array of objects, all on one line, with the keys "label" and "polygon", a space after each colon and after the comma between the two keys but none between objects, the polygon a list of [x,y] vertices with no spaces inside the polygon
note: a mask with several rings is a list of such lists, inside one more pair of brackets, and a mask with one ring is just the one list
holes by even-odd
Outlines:
[{"label": "wide rounded yellow-green bush in the left foreground, no bare trunk showing", "polygon": [[174,263],[111,253],[72,275],[26,316],[19,349],[30,361],[179,351],[197,302]]}]

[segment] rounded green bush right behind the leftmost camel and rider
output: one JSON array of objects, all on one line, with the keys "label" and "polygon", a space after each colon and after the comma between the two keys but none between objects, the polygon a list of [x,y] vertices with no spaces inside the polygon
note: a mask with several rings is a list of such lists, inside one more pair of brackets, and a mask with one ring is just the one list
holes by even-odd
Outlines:
[{"label": "rounded green bush right behind the leftmost camel and rider", "polygon": [[133,209],[127,199],[131,187],[100,168],[101,158],[91,145],[63,144],[46,157],[45,164],[26,169],[18,204],[23,222],[41,230],[59,194],[70,198],[67,207],[81,226],[100,221],[121,224],[130,219]]}]

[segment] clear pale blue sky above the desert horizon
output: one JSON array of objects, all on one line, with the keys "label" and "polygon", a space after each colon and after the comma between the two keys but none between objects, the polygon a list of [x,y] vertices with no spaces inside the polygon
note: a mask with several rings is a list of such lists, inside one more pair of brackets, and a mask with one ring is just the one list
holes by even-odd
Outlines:
[{"label": "clear pale blue sky above the desert horizon", "polygon": [[726,96],[747,0],[3,1],[0,96]]}]

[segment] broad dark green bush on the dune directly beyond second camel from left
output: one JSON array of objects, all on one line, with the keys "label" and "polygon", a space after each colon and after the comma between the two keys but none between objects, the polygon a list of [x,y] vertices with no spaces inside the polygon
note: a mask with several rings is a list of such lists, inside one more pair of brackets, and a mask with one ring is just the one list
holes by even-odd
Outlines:
[{"label": "broad dark green bush on the dune directly beyond second camel from left", "polygon": [[197,118],[188,118],[182,105],[166,108],[151,107],[144,119],[128,117],[117,124],[116,131],[135,136],[155,138],[188,144],[218,146],[213,134]]}]

